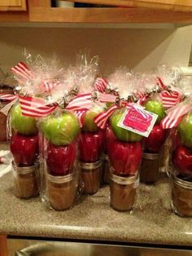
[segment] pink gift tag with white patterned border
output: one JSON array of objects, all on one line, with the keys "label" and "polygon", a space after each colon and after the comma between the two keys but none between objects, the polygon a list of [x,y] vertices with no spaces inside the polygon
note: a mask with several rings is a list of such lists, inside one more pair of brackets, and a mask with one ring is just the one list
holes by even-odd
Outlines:
[{"label": "pink gift tag with white patterned border", "polygon": [[136,104],[129,105],[117,126],[133,131],[138,135],[148,137],[158,115],[144,110]]}]

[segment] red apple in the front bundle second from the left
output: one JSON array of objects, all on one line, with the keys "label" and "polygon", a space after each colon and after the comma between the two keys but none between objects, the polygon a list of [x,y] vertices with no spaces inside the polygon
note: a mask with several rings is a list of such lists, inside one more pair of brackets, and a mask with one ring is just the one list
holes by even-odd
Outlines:
[{"label": "red apple in the front bundle second from the left", "polygon": [[46,163],[50,174],[55,176],[69,174],[75,160],[76,143],[71,143],[67,146],[55,146],[49,143]]}]

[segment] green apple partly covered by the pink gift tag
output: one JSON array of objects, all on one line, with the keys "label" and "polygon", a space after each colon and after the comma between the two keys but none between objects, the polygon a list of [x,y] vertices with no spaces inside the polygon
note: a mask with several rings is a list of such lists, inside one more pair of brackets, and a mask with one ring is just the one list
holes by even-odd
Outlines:
[{"label": "green apple partly covered by the pink gift tag", "polygon": [[126,130],[117,126],[123,114],[124,112],[120,112],[119,110],[117,110],[110,118],[111,127],[114,134],[116,135],[116,138],[125,142],[135,142],[142,140],[142,135],[137,135],[130,130]]}]

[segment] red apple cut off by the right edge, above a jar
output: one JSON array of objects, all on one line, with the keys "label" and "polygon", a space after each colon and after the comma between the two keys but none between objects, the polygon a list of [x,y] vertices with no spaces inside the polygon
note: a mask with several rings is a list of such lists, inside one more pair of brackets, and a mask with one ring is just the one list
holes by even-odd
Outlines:
[{"label": "red apple cut off by the right edge, above a jar", "polygon": [[172,153],[172,163],[179,173],[192,175],[192,149],[177,146]]}]

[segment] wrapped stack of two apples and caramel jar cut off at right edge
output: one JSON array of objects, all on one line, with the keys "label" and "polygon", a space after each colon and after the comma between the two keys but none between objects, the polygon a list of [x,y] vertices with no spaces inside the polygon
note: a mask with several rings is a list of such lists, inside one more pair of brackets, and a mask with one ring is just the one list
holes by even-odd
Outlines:
[{"label": "wrapped stack of two apples and caramel jar cut off at right edge", "polygon": [[171,183],[171,205],[174,213],[192,217],[192,113],[181,117],[172,130],[172,152],[168,176]]}]

